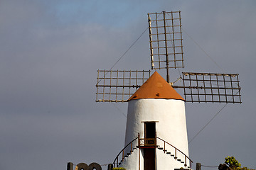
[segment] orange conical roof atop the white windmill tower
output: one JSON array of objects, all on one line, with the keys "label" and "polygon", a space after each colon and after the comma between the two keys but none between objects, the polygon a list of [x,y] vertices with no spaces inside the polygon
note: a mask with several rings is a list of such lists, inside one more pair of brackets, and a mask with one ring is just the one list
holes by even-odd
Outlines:
[{"label": "orange conical roof atop the white windmill tower", "polygon": [[166,98],[185,101],[158,72],[154,72],[128,101],[140,98]]}]

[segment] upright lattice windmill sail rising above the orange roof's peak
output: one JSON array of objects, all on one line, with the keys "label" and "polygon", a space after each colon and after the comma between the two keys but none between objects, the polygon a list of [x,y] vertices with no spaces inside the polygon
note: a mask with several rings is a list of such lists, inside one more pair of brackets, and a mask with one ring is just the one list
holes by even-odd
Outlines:
[{"label": "upright lattice windmill sail rising above the orange roof's peak", "polygon": [[151,69],[183,68],[181,11],[148,13]]}]

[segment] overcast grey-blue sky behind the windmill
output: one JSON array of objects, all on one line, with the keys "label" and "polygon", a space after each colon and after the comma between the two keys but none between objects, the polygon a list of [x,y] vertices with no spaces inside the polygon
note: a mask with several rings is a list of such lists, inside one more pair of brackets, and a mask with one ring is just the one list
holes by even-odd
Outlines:
[{"label": "overcast grey-blue sky behind the windmill", "polygon": [[[1,0],[0,169],[112,163],[127,103],[95,102],[97,69],[143,33],[147,13],[164,10],[181,11],[181,71],[240,74],[242,104],[186,103],[189,141],[225,106],[189,144],[193,168],[229,155],[256,169],[255,9],[255,0]],[[150,69],[147,31],[113,69]]]}]

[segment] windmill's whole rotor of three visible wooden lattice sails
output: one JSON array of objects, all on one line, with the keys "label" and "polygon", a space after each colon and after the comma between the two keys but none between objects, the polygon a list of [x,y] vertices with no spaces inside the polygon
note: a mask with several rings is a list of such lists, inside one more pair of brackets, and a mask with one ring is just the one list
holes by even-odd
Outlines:
[{"label": "windmill's whole rotor of three visible wooden lattice sails", "polygon": [[[183,85],[169,81],[169,69],[183,68],[181,11],[148,13],[151,69],[166,69],[166,81],[183,89],[186,102],[242,103],[238,74],[183,72]],[[97,102],[126,102],[150,71],[98,70]]]}]

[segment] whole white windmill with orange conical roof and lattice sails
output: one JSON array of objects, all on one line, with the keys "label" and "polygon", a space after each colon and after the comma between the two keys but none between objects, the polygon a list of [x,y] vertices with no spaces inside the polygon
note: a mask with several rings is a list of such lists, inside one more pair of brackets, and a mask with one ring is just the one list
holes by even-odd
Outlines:
[{"label": "whole white windmill with orange conical roof and lattice sails", "polygon": [[[128,102],[124,149],[114,166],[129,169],[191,169],[185,102],[241,103],[238,74],[182,72],[175,86],[170,70],[184,67],[181,11],[148,13],[151,69],[98,70],[97,102]],[[177,80],[177,81],[178,81]],[[183,89],[183,97],[174,89]]]}]

